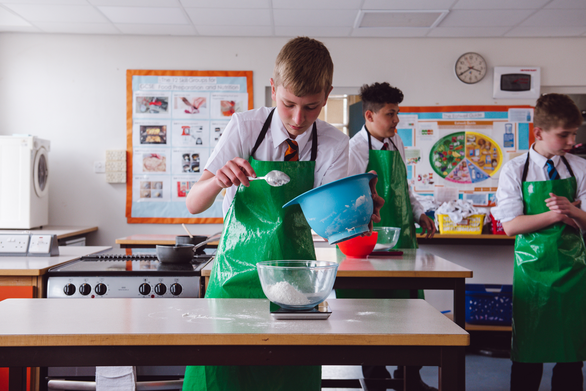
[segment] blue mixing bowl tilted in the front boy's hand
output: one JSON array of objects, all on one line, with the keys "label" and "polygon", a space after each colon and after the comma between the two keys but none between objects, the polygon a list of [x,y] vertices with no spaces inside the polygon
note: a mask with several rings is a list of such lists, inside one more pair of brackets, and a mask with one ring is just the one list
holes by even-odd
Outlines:
[{"label": "blue mixing bowl tilted in the front boy's hand", "polygon": [[375,174],[353,175],[298,195],[287,204],[299,204],[309,227],[330,244],[368,232],[373,212],[369,181]]}]

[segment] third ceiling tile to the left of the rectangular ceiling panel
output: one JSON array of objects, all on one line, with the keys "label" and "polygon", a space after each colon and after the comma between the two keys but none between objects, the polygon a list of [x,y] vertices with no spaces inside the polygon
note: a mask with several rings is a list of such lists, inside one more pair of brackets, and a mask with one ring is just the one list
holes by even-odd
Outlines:
[{"label": "third ceiling tile to the left of the rectangular ceiling panel", "polygon": [[180,8],[98,6],[98,9],[114,23],[189,24],[189,20]]}]

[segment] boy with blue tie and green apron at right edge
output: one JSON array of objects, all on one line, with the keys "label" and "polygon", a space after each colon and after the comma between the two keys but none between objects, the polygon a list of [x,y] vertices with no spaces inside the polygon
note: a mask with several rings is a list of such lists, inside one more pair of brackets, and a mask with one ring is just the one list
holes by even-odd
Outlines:
[{"label": "boy with blue tie and green apron at right edge", "polygon": [[582,116],[561,94],[543,95],[535,143],[503,166],[492,214],[515,240],[511,390],[582,390],[586,359],[586,160],[567,154]]}]

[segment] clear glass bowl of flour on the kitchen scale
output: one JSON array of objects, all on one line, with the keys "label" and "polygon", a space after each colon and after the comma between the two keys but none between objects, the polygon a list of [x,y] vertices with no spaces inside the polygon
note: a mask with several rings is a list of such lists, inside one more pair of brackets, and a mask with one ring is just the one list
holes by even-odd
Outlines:
[{"label": "clear glass bowl of flour on the kitchen scale", "polygon": [[315,307],[332,291],[338,263],[325,260],[268,260],[257,263],[268,300],[288,310]]}]

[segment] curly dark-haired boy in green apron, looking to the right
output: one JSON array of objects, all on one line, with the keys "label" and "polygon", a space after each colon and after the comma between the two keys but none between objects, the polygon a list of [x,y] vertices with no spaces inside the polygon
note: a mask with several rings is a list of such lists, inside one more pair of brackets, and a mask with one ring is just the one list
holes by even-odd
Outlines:
[{"label": "curly dark-haired boy in green apron, looking to the right", "polygon": [[[381,221],[376,227],[399,227],[400,238],[396,248],[417,248],[415,225],[417,221],[431,238],[435,234],[434,221],[427,217],[423,207],[415,199],[407,184],[407,166],[403,141],[397,135],[399,122],[398,105],[403,102],[403,92],[389,83],[364,84],[360,88],[362,113],[365,124],[350,139],[348,175],[375,170],[379,174],[377,191],[386,203],[380,210]],[[390,289],[337,289],[339,298],[409,299],[408,290]],[[423,299],[423,290],[418,297]],[[363,366],[365,378],[390,378],[384,366]],[[395,378],[403,378],[403,367],[394,372]],[[420,381],[421,390],[431,390]],[[376,390],[375,390],[376,391]]]}]

